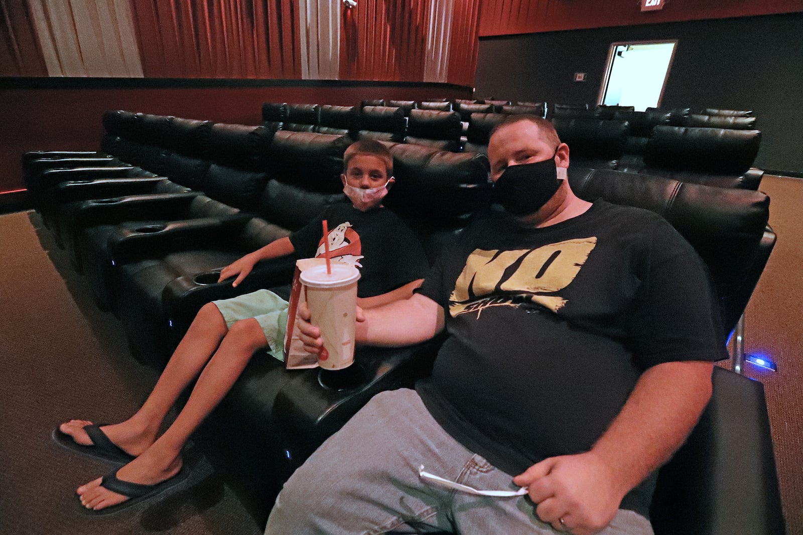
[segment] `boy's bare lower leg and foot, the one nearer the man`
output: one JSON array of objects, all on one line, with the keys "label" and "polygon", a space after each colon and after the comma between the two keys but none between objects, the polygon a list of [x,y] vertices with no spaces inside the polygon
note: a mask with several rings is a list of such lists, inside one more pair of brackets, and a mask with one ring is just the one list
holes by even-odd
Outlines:
[{"label": "boy's bare lower leg and foot, the one nearer the man", "polygon": [[[251,355],[265,345],[265,335],[255,319],[232,325],[198,377],[190,399],[173,424],[137,459],[120,468],[117,477],[131,483],[152,485],[175,476],[181,469],[181,448],[231,390]],[[100,487],[100,478],[82,485],[77,492],[87,508],[106,508],[126,500],[125,496]]]}]

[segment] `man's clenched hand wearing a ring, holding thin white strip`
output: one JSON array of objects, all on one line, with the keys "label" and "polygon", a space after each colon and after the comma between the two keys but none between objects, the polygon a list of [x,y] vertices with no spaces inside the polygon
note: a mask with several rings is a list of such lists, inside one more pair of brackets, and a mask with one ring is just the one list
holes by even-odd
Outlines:
[{"label": "man's clenched hand wearing a ring, holding thin white strip", "polygon": [[604,529],[628,490],[618,488],[615,474],[592,451],[544,459],[513,478],[513,483],[528,487],[542,521],[575,535]]}]

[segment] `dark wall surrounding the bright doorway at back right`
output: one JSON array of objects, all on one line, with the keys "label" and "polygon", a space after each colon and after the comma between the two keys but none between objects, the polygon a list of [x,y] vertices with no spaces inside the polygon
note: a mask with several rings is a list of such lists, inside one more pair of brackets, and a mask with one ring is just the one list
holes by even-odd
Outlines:
[{"label": "dark wall surrounding the bright doorway at back right", "polygon": [[662,107],[752,109],[756,166],[803,174],[803,13],[483,38],[475,95],[593,106],[610,44],[655,39],[678,39]]}]

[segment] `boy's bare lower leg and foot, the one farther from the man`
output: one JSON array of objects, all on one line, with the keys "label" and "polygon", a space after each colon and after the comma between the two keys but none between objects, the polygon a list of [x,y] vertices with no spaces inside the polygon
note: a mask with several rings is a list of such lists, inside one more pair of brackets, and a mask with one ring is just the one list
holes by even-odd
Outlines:
[{"label": "boy's bare lower leg and foot, the one farther from the man", "polygon": [[[140,455],[156,439],[161,422],[170,407],[209,361],[226,336],[226,321],[212,303],[198,311],[190,329],[181,339],[173,356],[165,366],[153,391],[137,413],[121,423],[101,427],[108,438],[131,455]],[[88,446],[92,440],[84,431],[91,424],[87,420],[71,420],[61,424],[59,430],[71,435],[76,443]]]}]

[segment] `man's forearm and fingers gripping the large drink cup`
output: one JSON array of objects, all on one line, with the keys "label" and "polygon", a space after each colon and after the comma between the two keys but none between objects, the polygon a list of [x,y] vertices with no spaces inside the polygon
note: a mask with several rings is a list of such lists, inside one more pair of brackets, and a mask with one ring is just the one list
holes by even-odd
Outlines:
[{"label": "man's forearm and fingers gripping the large drink cup", "polygon": [[[300,340],[304,349],[317,354],[324,341],[320,329],[309,322],[306,303],[298,308]],[[429,340],[443,330],[443,308],[429,297],[414,293],[410,299],[379,308],[357,308],[357,342],[396,347]]]}]

